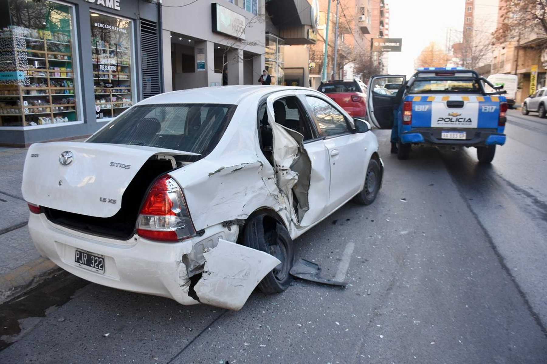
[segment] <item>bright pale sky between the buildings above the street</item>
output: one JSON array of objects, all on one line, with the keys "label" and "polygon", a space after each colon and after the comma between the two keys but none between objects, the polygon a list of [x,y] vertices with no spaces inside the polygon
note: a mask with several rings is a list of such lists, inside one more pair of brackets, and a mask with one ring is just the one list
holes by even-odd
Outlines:
[{"label": "bright pale sky between the buildings above the street", "polygon": [[[465,0],[387,0],[389,38],[403,38],[402,51],[389,54],[389,74],[414,74],[414,60],[430,42],[446,45],[452,28],[452,43],[463,30]],[[459,31],[459,33],[457,32]]]}]

